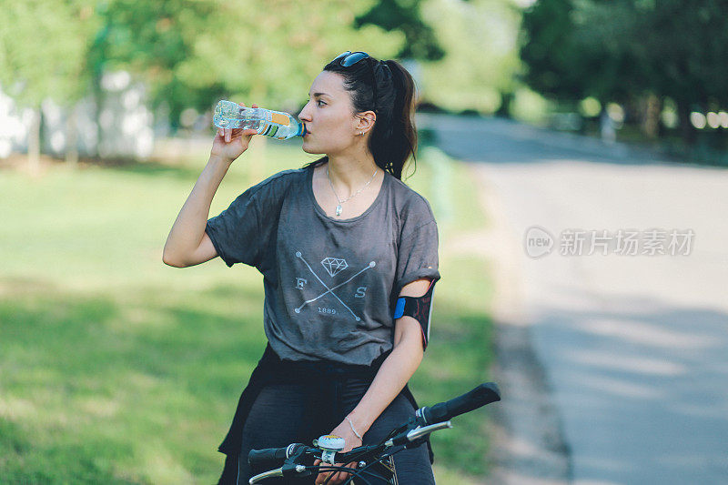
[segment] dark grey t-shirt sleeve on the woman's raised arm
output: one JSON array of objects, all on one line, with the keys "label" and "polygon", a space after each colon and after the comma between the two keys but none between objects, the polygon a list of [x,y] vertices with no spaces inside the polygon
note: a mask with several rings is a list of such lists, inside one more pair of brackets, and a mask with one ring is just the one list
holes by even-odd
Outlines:
[{"label": "dark grey t-shirt sleeve on the woman's raised arm", "polygon": [[205,232],[228,268],[235,263],[259,268],[269,233],[277,230],[285,173],[248,188],[218,216],[207,219]]}]

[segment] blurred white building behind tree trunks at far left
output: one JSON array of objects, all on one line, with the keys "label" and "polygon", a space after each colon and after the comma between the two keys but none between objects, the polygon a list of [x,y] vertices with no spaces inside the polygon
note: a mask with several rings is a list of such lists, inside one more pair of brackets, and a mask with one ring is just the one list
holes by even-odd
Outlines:
[{"label": "blurred white building behind tree trunks at far left", "polygon": [[[154,148],[154,115],[146,104],[146,89],[132,82],[126,71],[106,73],[101,79],[104,96],[96,129],[92,96],[76,103],[76,147],[79,155],[149,157]],[[47,99],[41,104],[41,149],[62,157],[66,153],[70,109]],[[19,107],[0,90],[0,158],[25,153],[33,110]],[[98,139],[100,138],[100,139]]]}]

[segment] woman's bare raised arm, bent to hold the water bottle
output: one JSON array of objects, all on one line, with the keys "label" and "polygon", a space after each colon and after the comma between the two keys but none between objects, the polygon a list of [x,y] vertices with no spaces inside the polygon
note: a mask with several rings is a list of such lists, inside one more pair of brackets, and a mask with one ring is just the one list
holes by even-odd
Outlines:
[{"label": "woman's bare raised arm, bent to hold the water bottle", "polygon": [[[241,105],[243,106],[243,105]],[[258,107],[253,105],[253,107]],[[217,257],[217,250],[205,232],[212,198],[230,165],[248,149],[254,129],[218,129],[209,160],[195,187],[177,215],[162,253],[169,266],[186,268]]]}]

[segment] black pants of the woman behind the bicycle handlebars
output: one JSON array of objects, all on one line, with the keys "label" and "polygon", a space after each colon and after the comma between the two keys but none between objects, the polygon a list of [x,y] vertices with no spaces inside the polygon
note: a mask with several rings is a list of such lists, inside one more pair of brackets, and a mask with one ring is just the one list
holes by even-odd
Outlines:
[{"label": "black pants of the woman behind the bicycle handlebars", "polygon": [[[307,407],[304,398],[307,389],[303,385],[270,384],[261,389],[243,428],[242,450],[238,460],[238,485],[247,484],[251,476],[265,471],[250,469],[248,465],[250,450],[280,448],[294,442],[310,446],[311,440],[336,428],[356,407],[368,388],[369,382],[364,380],[342,380],[337,391],[337,409],[328,417],[328,422],[319,419],[313,426],[308,416],[310,408]],[[364,434],[364,444],[383,440],[389,431],[410,419],[414,412],[415,409],[410,401],[399,394]],[[401,485],[435,483],[425,445],[412,450],[402,450],[394,455],[394,466]],[[310,484],[315,479],[316,476],[287,481],[268,479],[266,483]],[[375,483],[373,479],[369,482],[372,485]]]}]

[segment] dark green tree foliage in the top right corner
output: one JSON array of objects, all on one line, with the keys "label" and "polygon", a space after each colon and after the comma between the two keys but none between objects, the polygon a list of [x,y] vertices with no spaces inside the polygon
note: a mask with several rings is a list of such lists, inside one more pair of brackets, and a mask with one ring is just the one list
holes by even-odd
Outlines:
[{"label": "dark green tree foliage in the top right corner", "polygon": [[523,15],[523,80],[565,101],[670,97],[683,136],[694,108],[726,105],[725,0],[539,0]]}]

